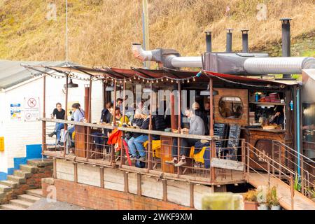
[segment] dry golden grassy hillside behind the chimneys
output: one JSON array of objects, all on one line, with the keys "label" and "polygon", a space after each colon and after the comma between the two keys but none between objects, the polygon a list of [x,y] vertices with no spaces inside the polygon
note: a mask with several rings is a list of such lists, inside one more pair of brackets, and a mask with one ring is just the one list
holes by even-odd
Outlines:
[{"label": "dry golden grassy hillside behind the chimneys", "polygon": [[[57,20],[47,20],[49,3]],[[251,50],[281,55],[281,22],[293,18],[293,55],[315,56],[313,0],[148,0],[151,48],[174,48],[181,55],[204,52],[204,31],[214,35],[213,50],[225,50],[225,28],[234,28],[233,50],[241,49],[240,29],[250,29]],[[256,16],[265,2],[267,20]],[[226,9],[230,8],[228,12]],[[64,0],[1,0],[0,58],[65,58]],[[141,66],[131,43],[142,42],[141,0],[69,0],[69,60],[85,65]]]}]

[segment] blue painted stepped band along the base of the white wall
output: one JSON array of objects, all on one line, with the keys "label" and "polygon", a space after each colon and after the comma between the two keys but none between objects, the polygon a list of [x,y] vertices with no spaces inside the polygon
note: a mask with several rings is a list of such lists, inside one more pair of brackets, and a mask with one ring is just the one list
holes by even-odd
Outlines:
[{"label": "blue painted stepped band along the base of the white wall", "polygon": [[26,157],[13,158],[14,167],[8,168],[8,173],[0,172],[0,181],[7,179],[8,175],[12,175],[15,169],[20,169],[20,165],[27,164],[27,160],[40,159],[41,158],[41,144],[27,145]]}]

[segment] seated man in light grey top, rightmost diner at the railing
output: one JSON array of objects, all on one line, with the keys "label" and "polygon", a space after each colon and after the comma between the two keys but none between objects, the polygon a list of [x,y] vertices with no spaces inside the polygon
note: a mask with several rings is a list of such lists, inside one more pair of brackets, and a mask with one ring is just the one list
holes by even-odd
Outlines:
[{"label": "seated man in light grey top, rightmost diner at the railing", "polygon": [[[190,119],[190,129],[188,130],[187,128],[183,128],[181,133],[188,132],[188,134],[204,135],[204,121],[202,118],[200,118],[200,116],[196,116],[190,109],[186,109],[185,114],[188,119]],[[198,139],[181,139],[181,151],[179,152],[181,160],[177,162],[177,139],[174,139],[172,147],[173,160],[165,162],[175,165],[175,167],[186,165],[186,156],[190,153],[190,147],[194,146],[197,141]]]}]

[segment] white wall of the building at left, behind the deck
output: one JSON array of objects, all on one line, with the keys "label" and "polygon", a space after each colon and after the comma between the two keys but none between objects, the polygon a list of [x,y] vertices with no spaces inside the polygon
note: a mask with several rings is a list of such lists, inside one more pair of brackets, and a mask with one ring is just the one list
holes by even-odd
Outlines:
[{"label": "white wall of the building at left, behind the deck", "polygon": [[[68,102],[80,102],[84,109],[84,84],[87,81],[73,80],[78,83],[78,88],[69,89]],[[46,78],[46,117],[50,117],[55,104],[60,102],[65,108],[65,94],[62,91],[65,84],[65,78],[55,79],[48,76]],[[0,109],[0,136],[4,131],[5,137],[5,153],[8,158],[8,168],[13,167],[13,158],[25,157],[26,145],[41,144],[41,121],[25,122],[22,120],[10,120],[10,104],[22,104],[24,108],[25,97],[39,97],[41,106],[41,116],[43,113],[43,78],[38,78],[32,82],[26,83],[19,87],[13,88],[5,92],[4,99],[1,100]],[[103,107],[103,90],[102,82],[94,81],[92,83],[92,122],[99,120]],[[22,117],[24,114],[22,113]],[[54,124],[50,124],[53,126]],[[51,127],[50,127],[51,128]],[[50,132],[50,131],[48,131]],[[0,161],[3,155],[0,154]],[[2,164],[2,162],[1,162]],[[0,167],[4,167],[0,165]],[[1,168],[0,168],[1,169]]]}]

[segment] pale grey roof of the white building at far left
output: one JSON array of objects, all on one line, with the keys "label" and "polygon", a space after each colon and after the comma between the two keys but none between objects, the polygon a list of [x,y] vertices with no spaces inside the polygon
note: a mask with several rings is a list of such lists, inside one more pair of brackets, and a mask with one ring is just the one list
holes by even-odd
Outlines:
[{"label": "pale grey roof of the white building at far left", "polygon": [[[31,64],[31,65],[55,65],[64,66],[65,61],[10,61],[10,60],[0,60],[0,90],[7,89],[14,85],[18,85],[26,80],[31,79],[31,73],[21,66],[21,64]],[[68,64],[74,65],[72,62]],[[36,72],[33,72],[34,74]]]}]

